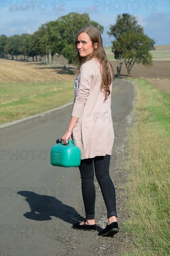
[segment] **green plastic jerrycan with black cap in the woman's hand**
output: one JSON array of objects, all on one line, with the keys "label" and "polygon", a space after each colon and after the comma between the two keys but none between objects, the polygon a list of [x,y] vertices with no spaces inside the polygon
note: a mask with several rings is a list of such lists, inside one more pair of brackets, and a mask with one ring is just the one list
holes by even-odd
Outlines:
[{"label": "green plastic jerrycan with black cap in the woman's hand", "polygon": [[68,140],[69,144],[63,145],[58,139],[56,145],[51,148],[51,164],[62,167],[78,167],[81,162],[80,148],[75,146],[75,142]]}]

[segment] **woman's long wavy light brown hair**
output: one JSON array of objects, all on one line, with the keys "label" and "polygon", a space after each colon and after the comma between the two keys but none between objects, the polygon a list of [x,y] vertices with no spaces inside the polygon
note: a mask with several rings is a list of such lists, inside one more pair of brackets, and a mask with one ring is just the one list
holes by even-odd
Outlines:
[{"label": "woman's long wavy light brown hair", "polygon": [[98,43],[98,47],[96,49],[94,48],[94,51],[92,54],[85,57],[81,57],[79,53],[77,53],[76,58],[78,60],[78,67],[76,69],[76,73],[79,73],[80,67],[86,61],[90,61],[94,57],[97,58],[98,61],[100,62],[100,71],[102,74],[101,89],[105,91],[105,97],[107,98],[111,94],[109,85],[113,81],[114,74],[113,74],[113,68],[111,66],[111,63],[107,60],[107,57],[105,54],[100,31],[98,30],[97,27],[93,27],[93,26],[82,27],[75,36],[74,43],[75,43],[76,49],[77,49],[77,38],[78,38],[78,35],[81,33],[88,34],[88,36],[92,41],[93,46],[95,43]]}]

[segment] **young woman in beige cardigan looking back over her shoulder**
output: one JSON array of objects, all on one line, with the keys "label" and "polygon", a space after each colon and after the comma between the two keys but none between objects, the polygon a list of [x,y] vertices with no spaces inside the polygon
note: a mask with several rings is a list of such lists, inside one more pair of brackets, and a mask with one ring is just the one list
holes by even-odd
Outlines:
[{"label": "young woman in beige cardigan looking back over her shoulder", "polygon": [[62,136],[69,137],[81,150],[78,167],[85,205],[85,221],[73,224],[74,229],[97,230],[95,223],[94,170],[107,209],[108,224],[100,236],[118,233],[115,188],[109,175],[111,151],[114,141],[111,118],[111,87],[113,70],[107,61],[101,34],[96,27],[81,28],[76,37],[78,50],[75,97],[68,129]]}]

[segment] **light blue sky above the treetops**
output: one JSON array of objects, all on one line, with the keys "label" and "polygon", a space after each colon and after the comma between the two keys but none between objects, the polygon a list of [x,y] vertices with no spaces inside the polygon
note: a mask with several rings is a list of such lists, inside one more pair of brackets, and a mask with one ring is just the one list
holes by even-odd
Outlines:
[{"label": "light blue sky above the treetops", "polygon": [[46,21],[57,20],[70,12],[89,13],[91,20],[104,26],[105,46],[111,40],[106,34],[117,15],[137,16],[144,33],[157,45],[170,44],[169,0],[1,0],[0,34],[33,34]]}]

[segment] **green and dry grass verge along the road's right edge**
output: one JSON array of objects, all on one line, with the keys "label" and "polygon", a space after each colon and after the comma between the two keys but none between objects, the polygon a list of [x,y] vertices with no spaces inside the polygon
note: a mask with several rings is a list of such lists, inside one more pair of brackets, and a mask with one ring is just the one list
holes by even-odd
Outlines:
[{"label": "green and dry grass verge along the road's right edge", "polygon": [[[124,255],[163,256],[170,253],[170,96],[145,84],[136,86],[140,116],[129,132],[131,170],[129,218],[124,230],[133,235],[135,249]],[[132,154],[135,152],[135,154]]]}]

